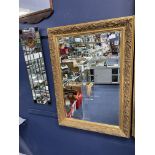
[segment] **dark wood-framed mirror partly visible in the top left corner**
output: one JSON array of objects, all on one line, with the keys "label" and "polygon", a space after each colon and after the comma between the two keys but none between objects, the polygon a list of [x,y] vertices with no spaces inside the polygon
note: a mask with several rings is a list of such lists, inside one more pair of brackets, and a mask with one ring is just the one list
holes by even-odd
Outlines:
[{"label": "dark wood-framed mirror partly visible in the top left corner", "polygon": [[53,0],[20,0],[19,22],[36,24],[54,13]]}]

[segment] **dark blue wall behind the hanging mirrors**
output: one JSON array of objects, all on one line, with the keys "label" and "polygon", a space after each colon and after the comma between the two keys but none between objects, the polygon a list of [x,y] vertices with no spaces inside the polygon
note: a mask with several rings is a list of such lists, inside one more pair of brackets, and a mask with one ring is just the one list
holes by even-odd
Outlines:
[{"label": "dark blue wall behind the hanging mirrors", "polygon": [[[37,26],[41,36],[47,28],[134,15],[134,0],[54,0],[54,14],[39,24],[20,24],[20,29]],[[24,55],[20,47],[20,151],[28,155],[134,155],[134,139],[119,138],[79,129],[60,127],[54,96],[48,40],[42,39],[51,105],[32,101]]]}]

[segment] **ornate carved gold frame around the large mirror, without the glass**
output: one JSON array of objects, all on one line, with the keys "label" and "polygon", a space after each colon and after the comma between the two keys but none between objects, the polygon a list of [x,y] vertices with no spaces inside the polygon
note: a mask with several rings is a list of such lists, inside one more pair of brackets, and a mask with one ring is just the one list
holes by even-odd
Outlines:
[{"label": "ornate carved gold frame around the large mirror, without the glass", "polygon": [[[64,111],[63,88],[61,69],[59,63],[58,37],[78,36],[107,31],[121,32],[121,70],[120,70],[120,123],[119,126],[94,123],[85,120],[66,118]],[[134,17],[121,17],[110,20],[82,23],[54,27],[48,29],[49,47],[51,54],[52,70],[59,125],[78,129],[106,133],[121,137],[130,137],[131,132],[131,105],[132,105],[132,80],[133,80],[133,55],[134,55]]]}]

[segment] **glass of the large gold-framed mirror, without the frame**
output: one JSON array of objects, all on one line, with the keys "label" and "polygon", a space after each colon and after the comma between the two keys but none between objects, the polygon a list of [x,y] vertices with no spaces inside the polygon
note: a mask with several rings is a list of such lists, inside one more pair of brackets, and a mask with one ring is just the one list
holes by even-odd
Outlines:
[{"label": "glass of the large gold-framed mirror, without the frame", "polygon": [[67,118],[119,125],[120,32],[59,37]]}]

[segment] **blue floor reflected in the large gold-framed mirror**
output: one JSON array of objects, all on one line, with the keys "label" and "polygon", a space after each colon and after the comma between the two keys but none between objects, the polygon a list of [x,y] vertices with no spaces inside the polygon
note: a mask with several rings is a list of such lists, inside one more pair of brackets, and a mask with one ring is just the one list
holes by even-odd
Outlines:
[{"label": "blue floor reflected in the large gold-framed mirror", "polygon": [[92,122],[119,124],[119,85],[94,85],[90,97],[83,86],[82,106],[74,118]]}]

